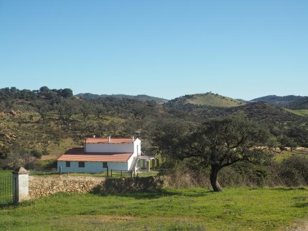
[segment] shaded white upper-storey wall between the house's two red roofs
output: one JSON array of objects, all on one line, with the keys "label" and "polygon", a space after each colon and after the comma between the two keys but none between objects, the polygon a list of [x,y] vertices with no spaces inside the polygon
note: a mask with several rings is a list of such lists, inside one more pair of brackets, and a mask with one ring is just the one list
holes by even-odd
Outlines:
[{"label": "shaded white upper-storey wall between the house's two red roofs", "polygon": [[134,143],[130,144],[85,144],[86,152],[134,152]]}]

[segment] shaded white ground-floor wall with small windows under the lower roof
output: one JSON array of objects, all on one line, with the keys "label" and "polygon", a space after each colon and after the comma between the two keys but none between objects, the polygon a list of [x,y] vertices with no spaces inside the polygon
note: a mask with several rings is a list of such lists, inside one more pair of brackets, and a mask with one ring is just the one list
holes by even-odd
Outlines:
[{"label": "shaded white ground-floor wall with small windows under the lower roof", "polygon": [[[107,168],[103,168],[103,162],[85,162],[84,167],[78,167],[78,161],[70,161],[70,167],[66,167],[66,161],[58,161],[57,169],[60,172],[60,166],[62,172],[87,172],[87,173],[96,173],[96,172],[105,172]],[[114,170],[129,170],[130,165],[128,162],[107,162],[109,166],[109,171]]]}]

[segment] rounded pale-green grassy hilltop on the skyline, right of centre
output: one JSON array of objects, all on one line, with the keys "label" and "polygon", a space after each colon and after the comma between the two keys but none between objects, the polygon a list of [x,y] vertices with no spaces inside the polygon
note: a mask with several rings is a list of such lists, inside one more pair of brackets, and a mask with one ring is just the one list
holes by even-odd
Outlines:
[{"label": "rounded pale-green grassy hilltop on the skyline, right of centre", "polygon": [[171,107],[183,107],[186,104],[195,104],[211,107],[237,107],[244,105],[243,101],[220,96],[211,92],[205,94],[185,95],[176,99],[172,99],[166,103]]}]

